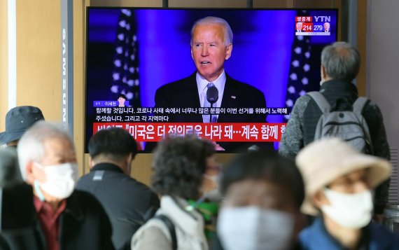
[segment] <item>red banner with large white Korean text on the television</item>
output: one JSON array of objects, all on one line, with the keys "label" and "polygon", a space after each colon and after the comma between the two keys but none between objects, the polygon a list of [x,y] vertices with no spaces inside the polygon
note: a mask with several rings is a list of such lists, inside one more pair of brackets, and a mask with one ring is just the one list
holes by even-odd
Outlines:
[{"label": "red banner with large white Korean text on the television", "polygon": [[99,130],[120,127],[137,141],[160,141],[168,134],[197,134],[211,141],[280,141],[286,123],[93,123]]}]

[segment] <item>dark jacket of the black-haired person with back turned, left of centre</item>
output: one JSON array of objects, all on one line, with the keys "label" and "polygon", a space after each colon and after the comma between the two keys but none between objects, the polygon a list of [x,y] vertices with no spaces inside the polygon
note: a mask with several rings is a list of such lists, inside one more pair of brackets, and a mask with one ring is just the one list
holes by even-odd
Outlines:
[{"label": "dark jacket of the black-haired person with back turned, left of centre", "polygon": [[95,165],[89,174],[79,179],[76,189],[91,193],[102,203],[112,224],[116,249],[125,244],[130,246],[134,232],[144,223],[146,211],[150,207],[160,207],[158,195],[148,186],[111,163]]}]

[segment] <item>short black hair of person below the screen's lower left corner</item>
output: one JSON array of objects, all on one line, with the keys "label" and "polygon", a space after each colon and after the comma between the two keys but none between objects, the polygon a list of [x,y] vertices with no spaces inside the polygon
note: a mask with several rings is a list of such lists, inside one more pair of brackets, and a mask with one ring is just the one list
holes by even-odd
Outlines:
[{"label": "short black hair of person below the screen's lower left corner", "polygon": [[98,155],[104,155],[110,160],[122,160],[132,153],[137,154],[137,143],[132,135],[119,127],[113,127],[108,130],[100,130],[93,134],[89,141],[89,153],[91,158]]}]

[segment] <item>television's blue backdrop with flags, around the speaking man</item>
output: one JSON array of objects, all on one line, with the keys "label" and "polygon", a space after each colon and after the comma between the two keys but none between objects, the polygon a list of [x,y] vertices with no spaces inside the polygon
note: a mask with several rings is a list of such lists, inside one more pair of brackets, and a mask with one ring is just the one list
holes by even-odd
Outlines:
[{"label": "television's blue backdrop with flags, around the speaking man", "polygon": [[[135,47],[135,51],[130,51],[129,56],[137,57],[135,59],[139,61],[139,71],[137,71],[137,67],[133,66],[134,76],[130,75],[133,79],[128,78],[125,83],[115,83],[114,73],[116,64],[118,64],[116,50],[118,50],[118,44],[120,45],[118,43],[120,33],[118,32],[120,29],[126,29],[126,24],[130,23],[126,18],[131,17],[131,15],[126,15],[125,19],[121,18],[123,9],[129,10],[130,14],[134,14],[134,18],[137,18],[134,25],[130,27],[130,32],[132,30],[137,32],[134,34],[137,40],[131,41],[137,47]],[[131,93],[134,96],[138,93],[139,98],[133,99],[139,100],[139,106],[153,108],[155,92],[160,86],[185,78],[195,72],[195,65],[190,55],[190,29],[193,22],[199,18],[215,15],[228,21],[232,27],[234,38],[232,56],[225,62],[225,73],[238,81],[253,85],[264,93],[266,105],[269,108],[269,110],[266,109],[267,123],[280,125],[277,130],[281,130],[281,124],[286,123],[287,115],[297,97],[303,95],[304,92],[318,90],[321,49],[323,46],[337,41],[338,34],[339,13],[337,8],[109,8],[90,6],[86,11],[85,153],[87,153],[87,144],[94,130],[93,123],[110,125],[120,123],[120,120],[113,117],[116,116],[115,113],[111,115],[111,120],[102,121],[96,120],[98,113],[95,114],[95,112],[101,108],[104,111],[102,114],[107,116],[106,113],[111,108],[111,112],[115,110],[118,113],[116,97],[120,94],[123,84],[132,89],[130,92],[124,91],[125,95]],[[119,16],[116,15],[117,12],[119,12]],[[97,16],[94,17],[93,13],[96,13]],[[237,16],[237,13],[241,16]],[[334,14],[330,15],[332,19],[330,20],[330,36],[306,35],[302,36],[302,40],[300,40],[301,34],[298,35],[295,30],[297,18],[310,16],[313,18],[311,22],[316,27],[316,25],[320,25],[321,17],[326,16],[321,13]],[[314,22],[316,18],[318,19],[317,23]],[[125,27],[121,27],[121,22],[125,22]],[[305,19],[304,23],[309,23],[309,20]],[[160,25],[165,26],[160,27]],[[260,39],[260,37],[266,39]],[[328,42],[326,42],[326,37],[330,38],[330,40],[327,39]],[[309,49],[311,51],[310,59],[306,58],[309,51],[300,51],[300,57],[296,61],[302,69],[295,69],[296,62],[293,58],[298,57],[295,44],[300,45],[299,50],[307,50],[305,41],[309,41],[309,46],[311,46]],[[162,47],[162,44],[165,46]],[[312,53],[313,50],[315,55]],[[306,63],[302,62],[306,60]],[[130,69],[130,64],[128,68]],[[122,76],[120,74],[120,78]],[[300,76],[302,78],[299,78]],[[293,87],[295,81],[302,81],[303,90]],[[115,86],[118,91],[113,92]],[[288,98],[288,95],[292,97]],[[95,104],[99,104],[99,106],[94,107]],[[138,106],[136,101],[130,99],[126,104],[132,108],[123,108],[127,109],[127,113],[130,111],[138,113],[137,109],[133,109]],[[286,113],[283,109],[286,109]],[[279,115],[273,114],[274,111],[279,111]],[[168,116],[172,116],[172,113],[169,113]],[[153,121],[152,124],[159,125]],[[137,122],[123,120],[122,123]],[[146,120],[140,123],[148,124],[149,122]],[[201,129],[205,130],[207,127]],[[261,128],[258,127],[258,129]],[[264,137],[259,137],[258,142],[265,141],[262,138]],[[269,141],[273,140],[269,139]],[[144,144],[141,145],[143,147],[141,149],[144,149]],[[149,153],[149,151],[140,152]],[[233,153],[233,151],[225,153]]]}]

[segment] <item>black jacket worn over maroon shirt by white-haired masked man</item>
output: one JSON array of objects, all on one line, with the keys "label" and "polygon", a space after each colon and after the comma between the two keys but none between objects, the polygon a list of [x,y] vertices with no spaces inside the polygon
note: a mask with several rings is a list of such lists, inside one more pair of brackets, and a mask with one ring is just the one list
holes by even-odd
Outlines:
[{"label": "black jacket worn over maroon shirt by white-haired masked man", "polygon": [[[26,190],[26,186],[23,189]],[[24,197],[20,196],[20,199],[23,198],[23,200],[19,202],[24,206],[14,207],[17,212],[8,209],[6,214],[2,213],[3,216],[8,216],[9,223],[6,230],[1,231],[1,237],[13,250],[45,250],[47,249],[45,236],[36,212],[31,212],[34,211],[33,193],[31,187],[28,187],[30,194],[25,192]],[[30,196],[29,199],[25,199],[27,196]],[[14,200],[18,199],[14,197]],[[4,204],[3,207],[8,204]],[[24,218],[23,221],[18,218],[16,213]],[[60,250],[114,249],[111,242],[112,230],[109,218],[102,205],[90,193],[75,190],[71,196],[66,198],[66,208],[59,216],[59,227]]]}]

